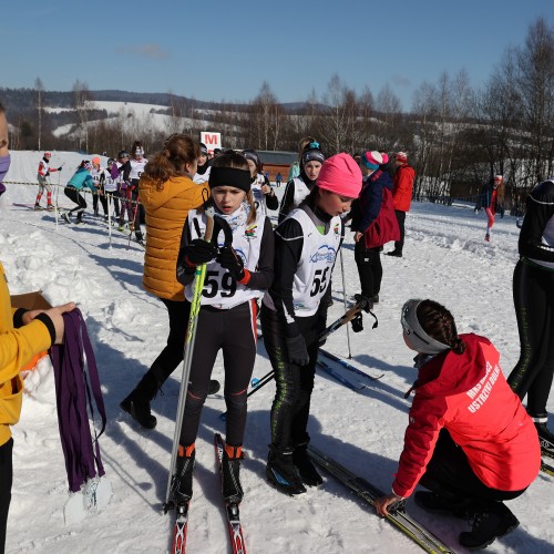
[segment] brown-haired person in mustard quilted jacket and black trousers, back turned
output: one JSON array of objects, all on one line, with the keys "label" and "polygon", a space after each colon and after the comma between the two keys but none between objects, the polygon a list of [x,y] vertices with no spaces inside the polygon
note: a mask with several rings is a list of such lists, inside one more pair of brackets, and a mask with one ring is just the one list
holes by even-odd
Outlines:
[{"label": "brown-haired person in mustard quilted jacket and black trousers, back turned", "polygon": [[198,156],[199,147],[193,138],[173,134],[146,165],[140,183],[147,232],[143,287],[162,300],[170,317],[167,343],[138,384],[120,403],[145,429],[154,429],[157,424],[151,401],[183,361],[188,312],[175,267],[188,211],[199,207],[209,196],[207,186],[198,186],[192,179]]}]

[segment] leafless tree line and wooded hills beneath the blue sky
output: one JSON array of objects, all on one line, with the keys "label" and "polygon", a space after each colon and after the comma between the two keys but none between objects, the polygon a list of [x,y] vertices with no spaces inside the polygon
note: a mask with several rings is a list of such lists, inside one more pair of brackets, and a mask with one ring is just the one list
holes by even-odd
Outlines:
[{"label": "leafless tree line and wooded hills beneath the blue sky", "polygon": [[[10,116],[17,126],[16,150],[113,155],[142,140],[146,152],[153,152],[174,132],[198,136],[201,131],[217,131],[225,147],[296,151],[299,138],[311,135],[327,155],[408,152],[417,173],[417,198],[425,195],[448,202],[452,196],[472,196],[483,182],[503,174],[507,208],[516,213],[529,189],[554,175],[554,28],[543,18],[530,25],[524,44],[505,50],[480,89],[472,89],[465,71],[443,72],[437,82],[419,85],[409,112],[402,111],[388,85],[377,95],[369,88],[357,93],[338,74],[321,95],[312,91],[297,104],[280,103],[267,82],[246,104],[199,102],[172,93],[148,95],[165,106],[163,130],[153,123],[154,111],[145,117],[123,111],[107,117],[94,102],[106,96],[115,100],[114,91],[93,93],[76,81],[71,110],[59,114],[44,110],[47,99],[52,105],[51,94],[55,93],[45,92],[37,79],[32,105],[21,110],[19,119]],[[130,101],[134,98],[121,94]],[[9,96],[6,89],[0,95]],[[54,136],[54,124],[66,124],[68,132]]]}]

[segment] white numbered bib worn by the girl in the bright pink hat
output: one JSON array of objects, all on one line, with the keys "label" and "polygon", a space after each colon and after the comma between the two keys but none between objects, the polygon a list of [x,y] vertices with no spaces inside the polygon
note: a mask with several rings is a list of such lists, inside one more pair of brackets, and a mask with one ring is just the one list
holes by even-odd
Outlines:
[{"label": "white numbered bib worn by the girl in the bright pink hat", "polygon": [[341,240],[340,217],[330,220],[329,230],[321,235],[304,209],[294,209],[289,217],[296,219],[304,235],[300,260],[293,281],[293,302],[298,317],[316,314],[329,283]]}]

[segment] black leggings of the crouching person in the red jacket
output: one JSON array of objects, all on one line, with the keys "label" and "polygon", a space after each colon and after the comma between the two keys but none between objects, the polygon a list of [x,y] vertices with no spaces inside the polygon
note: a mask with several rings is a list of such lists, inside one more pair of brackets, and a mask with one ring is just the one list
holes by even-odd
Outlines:
[{"label": "black leggings of the crouching person in the red jacket", "polygon": [[442,496],[478,501],[486,510],[497,502],[516,499],[526,490],[500,491],[486,486],[471,469],[468,456],[442,429],[420,484]]}]

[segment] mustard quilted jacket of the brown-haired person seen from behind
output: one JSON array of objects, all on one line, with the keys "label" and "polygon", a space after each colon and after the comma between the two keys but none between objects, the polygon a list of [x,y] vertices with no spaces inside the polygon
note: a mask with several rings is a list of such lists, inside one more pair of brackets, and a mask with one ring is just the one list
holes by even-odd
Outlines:
[{"label": "mustard quilted jacket of the brown-haired person seen from behind", "polygon": [[161,191],[142,177],[138,189],[146,212],[143,287],[158,298],[184,301],[183,285],[176,277],[181,234],[188,211],[199,207],[209,189],[185,176],[172,177]]}]

